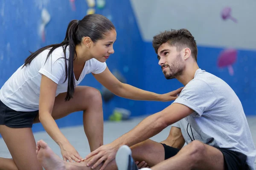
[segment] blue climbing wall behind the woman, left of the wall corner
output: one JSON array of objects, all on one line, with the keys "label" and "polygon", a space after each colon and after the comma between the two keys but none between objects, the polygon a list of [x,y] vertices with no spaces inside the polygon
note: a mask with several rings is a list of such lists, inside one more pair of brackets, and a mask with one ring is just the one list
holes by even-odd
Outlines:
[{"label": "blue climbing wall behind the woman, left of the wall corner", "polygon": [[[55,0],[54,3],[49,0],[0,2],[0,87],[23,64],[29,51],[63,41],[70,20],[82,19],[87,14],[86,0],[76,0],[75,6],[76,11],[72,10],[69,0]],[[45,28],[45,42],[38,34],[43,8],[51,15]],[[129,0],[107,0],[104,8],[95,9],[97,14],[108,17],[117,31],[115,53],[107,61],[108,68],[118,70],[127,83],[143,88],[143,41]],[[102,89],[91,74],[85,77],[81,85]],[[110,102],[103,102],[104,119],[109,118],[115,107],[128,109],[131,116],[137,116],[145,113],[143,106],[143,101],[115,96]],[[81,125],[82,112],[70,114],[57,120],[57,123],[59,127]],[[43,130],[43,127],[36,124],[33,130]]]}]

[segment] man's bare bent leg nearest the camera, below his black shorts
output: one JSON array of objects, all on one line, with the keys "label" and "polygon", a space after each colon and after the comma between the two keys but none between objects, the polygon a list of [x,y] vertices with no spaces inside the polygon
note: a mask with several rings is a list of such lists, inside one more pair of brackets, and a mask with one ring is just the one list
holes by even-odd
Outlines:
[{"label": "man's bare bent leg nearest the camera, below his black shorts", "polygon": [[167,159],[151,170],[224,170],[224,156],[220,150],[199,141],[193,141],[176,156]]}]

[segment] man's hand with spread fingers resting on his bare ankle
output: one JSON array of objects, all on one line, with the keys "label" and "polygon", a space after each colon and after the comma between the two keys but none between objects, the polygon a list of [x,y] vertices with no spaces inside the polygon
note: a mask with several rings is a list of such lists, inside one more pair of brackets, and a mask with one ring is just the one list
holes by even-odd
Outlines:
[{"label": "man's hand with spread fingers resting on his bare ankle", "polygon": [[115,159],[118,148],[119,146],[113,142],[111,144],[102,145],[85,157],[85,160],[87,160],[93,156],[93,158],[87,163],[87,166],[89,167],[96,162],[92,166],[92,169],[94,169],[104,161],[104,164],[100,168],[100,170],[104,170],[107,164]]}]

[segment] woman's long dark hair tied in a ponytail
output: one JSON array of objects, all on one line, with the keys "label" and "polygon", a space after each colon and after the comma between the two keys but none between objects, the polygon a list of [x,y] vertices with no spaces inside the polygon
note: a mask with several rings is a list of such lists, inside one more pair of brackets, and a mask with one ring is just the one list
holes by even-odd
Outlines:
[{"label": "woman's long dark hair tied in a ponytail", "polygon": [[[73,94],[75,91],[73,60],[76,54],[76,45],[79,45],[81,43],[83,37],[90,37],[90,39],[94,43],[98,40],[102,40],[105,37],[105,33],[112,29],[115,29],[113,23],[111,23],[111,21],[108,20],[108,18],[100,14],[88,14],[82,20],[72,20],[70,21],[67,27],[66,37],[63,42],[61,42],[60,44],[48,45],[46,47],[40,48],[38,51],[35,51],[34,53],[31,53],[31,55],[26,58],[23,67],[29,65],[32,62],[32,60],[35,57],[37,57],[38,54],[40,54],[42,51],[51,48],[47,55],[48,59],[52,51],[62,46],[66,65],[66,78],[64,82],[66,82],[68,79],[67,96],[65,100],[68,101],[71,98],[73,98]],[[70,51],[69,59],[67,59],[66,57],[66,49],[68,45]]]}]

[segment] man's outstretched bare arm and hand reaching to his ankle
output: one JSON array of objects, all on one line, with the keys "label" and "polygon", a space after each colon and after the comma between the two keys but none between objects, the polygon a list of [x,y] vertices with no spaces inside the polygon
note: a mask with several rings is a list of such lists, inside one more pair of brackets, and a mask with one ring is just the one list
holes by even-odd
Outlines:
[{"label": "man's outstretched bare arm and hand reaching to his ankle", "polygon": [[189,116],[193,112],[194,111],[192,109],[185,105],[173,103],[163,111],[148,116],[142,122],[140,122],[139,125],[134,127],[134,129],[114,140],[111,144],[103,145],[91,152],[85,157],[85,159],[89,159],[93,156],[93,158],[88,162],[87,166],[90,166],[96,161],[96,163],[92,166],[95,168],[102,163],[102,161],[105,161],[101,167],[101,170],[103,170],[106,165],[114,159],[120,146],[132,146],[134,144],[143,142],[161,132],[167,126],[172,125],[186,116]]}]

